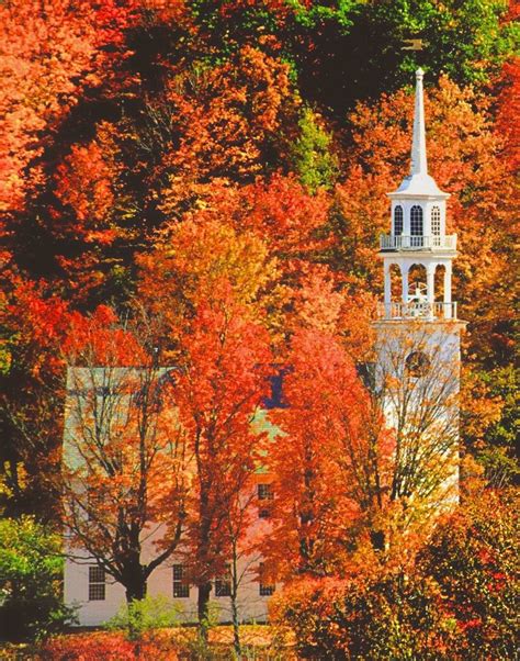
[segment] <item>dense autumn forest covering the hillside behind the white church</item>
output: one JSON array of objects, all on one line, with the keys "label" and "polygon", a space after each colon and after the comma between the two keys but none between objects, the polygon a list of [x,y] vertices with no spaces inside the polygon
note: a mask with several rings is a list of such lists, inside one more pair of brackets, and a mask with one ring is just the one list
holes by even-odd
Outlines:
[{"label": "dense autumn forest covering the hillside behind the white church", "polygon": [[[235,480],[221,484],[230,518],[249,474],[246,458],[252,461],[265,442],[247,429],[272,377],[258,366],[299,366],[287,383],[295,410],[312,379],[313,388],[357,411],[355,434],[363,437],[375,414],[354,368],[370,360],[371,314],[383,288],[378,235],[389,227],[385,193],[409,169],[418,66],[426,71],[429,168],[451,193],[450,232],[459,236],[453,298],[468,322],[462,474],[468,493],[484,490],[483,508],[497,517],[507,511],[497,494],[511,497],[518,480],[517,13],[515,2],[501,0],[0,0],[0,507],[10,526],[60,529],[68,365],[178,366],[173,390],[185,434],[200,430],[204,418],[207,438],[211,424],[226,419],[240,438],[235,453],[227,437],[218,439],[228,449],[201,472],[197,492],[207,489],[210,497],[226,466]],[[420,40],[418,49],[407,40]],[[330,418],[325,403],[319,411]],[[279,448],[281,456],[271,452],[273,470],[283,473],[305,436],[305,416],[275,415],[294,439]],[[328,438],[325,428],[313,429],[316,439]],[[377,434],[385,455],[387,439]],[[329,460],[316,470],[332,470]],[[154,472],[162,485],[165,471],[171,475],[179,466]],[[332,473],[338,484],[349,480]],[[102,484],[99,472],[95,479]],[[284,477],[286,484],[291,479]],[[100,497],[110,500],[113,483],[109,474]],[[173,541],[190,518],[189,504],[179,509],[179,484],[148,511],[169,517]],[[319,495],[320,506],[329,495]],[[363,516],[353,513],[352,498],[334,506],[355,522],[358,541],[349,548],[361,552],[360,530],[370,528],[371,515],[361,496]],[[430,579],[450,545],[470,552],[463,539],[471,525],[486,530],[483,539],[489,533],[484,519],[472,518],[479,508],[471,494],[467,501],[470,509],[452,523],[457,534],[444,523],[436,544],[419,552]],[[222,524],[215,507],[207,516]],[[389,505],[380,509],[377,529],[386,525],[383,515],[397,516]],[[211,558],[230,544],[233,525],[223,539],[203,529],[207,517],[195,518],[188,538],[204,592],[207,567],[215,570]],[[280,536],[287,526],[280,514]],[[315,530],[328,540],[343,533]],[[264,550],[273,565],[275,539]],[[353,571],[355,553],[347,559],[337,546],[299,558],[298,575]],[[396,589],[392,562],[370,576],[385,594]],[[366,576],[352,575],[358,583],[349,590],[369,598]],[[441,586],[448,581],[434,579]],[[327,590],[339,587],[324,587],[321,601]],[[420,592],[419,583],[406,590]],[[293,587],[291,607],[305,613],[316,601],[309,591],[309,584]],[[478,617],[459,606],[453,617],[466,624]],[[487,640],[482,631],[464,643],[470,654]],[[494,637],[500,638],[496,629]]]}]

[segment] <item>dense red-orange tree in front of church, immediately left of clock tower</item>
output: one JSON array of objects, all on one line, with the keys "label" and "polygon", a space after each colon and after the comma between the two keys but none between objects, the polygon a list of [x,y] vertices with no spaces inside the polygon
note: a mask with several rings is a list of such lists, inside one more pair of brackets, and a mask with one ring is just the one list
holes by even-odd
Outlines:
[{"label": "dense red-orange tree in front of church, immediately left of clock tower", "polygon": [[362,396],[354,366],[316,329],[294,335],[290,366],[283,386],[287,407],[270,412],[281,436],[268,458],[275,504],[264,553],[281,579],[334,571],[361,514],[338,463],[340,412],[353,413]]}]

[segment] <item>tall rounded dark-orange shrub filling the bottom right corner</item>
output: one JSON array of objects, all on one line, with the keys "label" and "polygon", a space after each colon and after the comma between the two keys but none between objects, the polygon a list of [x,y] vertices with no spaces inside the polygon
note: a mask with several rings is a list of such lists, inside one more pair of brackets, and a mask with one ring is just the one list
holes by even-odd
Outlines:
[{"label": "tall rounded dark-orange shrub filling the bottom right corner", "polygon": [[470,496],[439,525],[419,570],[439,585],[465,659],[513,659],[518,650],[518,492]]}]

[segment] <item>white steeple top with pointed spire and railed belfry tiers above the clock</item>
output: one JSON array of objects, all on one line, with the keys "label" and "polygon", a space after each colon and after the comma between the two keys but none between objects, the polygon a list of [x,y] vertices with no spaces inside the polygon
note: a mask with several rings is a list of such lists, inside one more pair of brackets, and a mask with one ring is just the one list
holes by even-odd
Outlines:
[{"label": "white steeple top with pointed spire and railed belfry tiers above the clock", "polygon": [[[423,75],[422,69],[416,71],[410,173],[396,191],[388,193],[392,200],[391,234],[381,237],[380,255],[385,273],[384,317],[388,320],[456,317],[456,304],[451,300],[456,235],[445,234],[445,201],[450,194],[441,191],[428,173]],[[392,265],[397,265],[402,272],[402,300],[398,303],[392,301]],[[410,293],[408,273],[412,266],[423,267],[426,283]],[[443,302],[436,302],[434,276],[438,267],[444,269]]]}]

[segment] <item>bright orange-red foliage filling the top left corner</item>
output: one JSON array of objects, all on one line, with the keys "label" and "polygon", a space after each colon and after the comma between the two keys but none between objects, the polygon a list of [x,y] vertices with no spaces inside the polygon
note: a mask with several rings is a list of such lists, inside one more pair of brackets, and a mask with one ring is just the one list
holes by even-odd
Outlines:
[{"label": "bright orange-red foliage filling the top left corner", "polygon": [[43,177],[39,168],[30,177],[23,171],[43,153],[39,136],[56,130],[82,90],[103,80],[131,22],[131,8],[115,0],[0,4],[0,210],[23,209],[27,189]]}]

